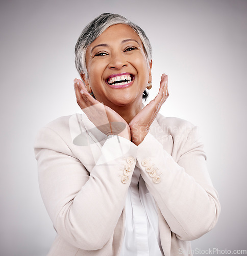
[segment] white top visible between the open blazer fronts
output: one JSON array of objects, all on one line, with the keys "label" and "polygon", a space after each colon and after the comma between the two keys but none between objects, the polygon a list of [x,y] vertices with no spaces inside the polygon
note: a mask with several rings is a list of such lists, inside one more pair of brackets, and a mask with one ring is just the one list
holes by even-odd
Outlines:
[{"label": "white top visible between the open blazer fronts", "polygon": [[[139,182],[139,183],[138,183]],[[153,196],[135,167],[125,204],[125,235],[120,256],[164,256]]]}]

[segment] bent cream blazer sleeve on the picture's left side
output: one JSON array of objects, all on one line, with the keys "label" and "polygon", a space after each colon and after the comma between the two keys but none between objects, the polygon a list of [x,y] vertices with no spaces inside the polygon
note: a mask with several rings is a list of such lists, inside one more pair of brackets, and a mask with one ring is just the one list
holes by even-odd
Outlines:
[{"label": "bent cream blazer sleeve on the picture's left side", "polygon": [[96,250],[111,238],[131,181],[132,174],[129,181],[121,181],[123,169],[130,156],[135,165],[136,152],[129,140],[109,136],[89,174],[57,132],[44,127],[38,133],[35,155],[41,196],[55,230],[67,242]]}]

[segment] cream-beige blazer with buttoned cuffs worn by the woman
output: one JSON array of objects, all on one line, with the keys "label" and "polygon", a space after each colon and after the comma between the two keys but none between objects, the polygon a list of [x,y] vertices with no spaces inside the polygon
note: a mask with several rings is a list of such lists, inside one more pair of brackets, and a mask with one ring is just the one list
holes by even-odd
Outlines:
[{"label": "cream-beige blazer with buttoned cuffs worn by the woman", "polygon": [[132,176],[122,178],[128,157],[156,201],[165,256],[188,255],[189,241],[217,222],[220,204],[203,144],[197,127],[185,120],[159,114],[136,146],[107,137],[85,114],[65,116],[37,134],[35,156],[41,196],[57,232],[48,255],[118,255]]}]

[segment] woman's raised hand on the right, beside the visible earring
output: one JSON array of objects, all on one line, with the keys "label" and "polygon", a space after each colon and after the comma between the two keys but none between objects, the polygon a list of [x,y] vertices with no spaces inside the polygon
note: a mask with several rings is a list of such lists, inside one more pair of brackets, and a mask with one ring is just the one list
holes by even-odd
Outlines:
[{"label": "woman's raised hand on the right, beside the visible earring", "polygon": [[149,133],[150,126],[156,118],[162,104],[169,96],[167,87],[168,76],[163,74],[160,81],[159,93],[147,104],[129,123],[131,130],[131,141],[139,145],[147,133]]}]

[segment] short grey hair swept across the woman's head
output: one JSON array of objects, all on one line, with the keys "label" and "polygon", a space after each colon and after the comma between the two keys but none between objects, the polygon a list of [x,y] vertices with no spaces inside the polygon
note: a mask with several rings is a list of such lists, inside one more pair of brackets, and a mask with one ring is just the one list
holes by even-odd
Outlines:
[{"label": "short grey hair swept across the woman's head", "polygon": [[86,50],[88,46],[100,36],[107,28],[115,24],[126,24],[130,26],[140,37],[143,44],[144,53],[146,56],[147,63],[151,62],[152,59],[152,47],[149,38],[147,38],[145,32],[134,23],[130,22],[124,16],[112,13],[103,13],[96,17],[92,22],[90,22],[82,31],[80,37],[78,38],[77,44],[75,46],[75,63],[79,74],[85,74],[88,78],[88,72],[86,67]]}]

